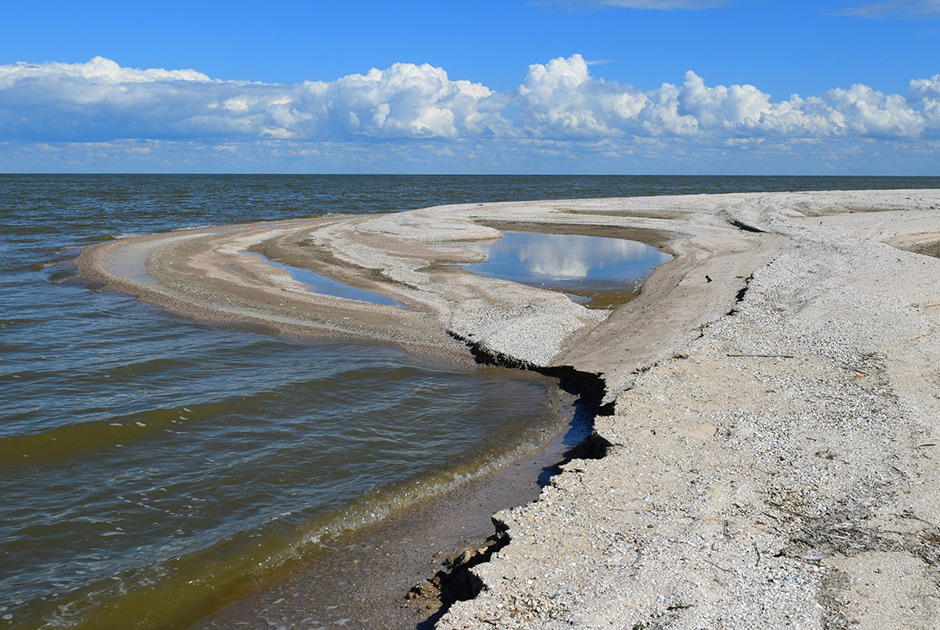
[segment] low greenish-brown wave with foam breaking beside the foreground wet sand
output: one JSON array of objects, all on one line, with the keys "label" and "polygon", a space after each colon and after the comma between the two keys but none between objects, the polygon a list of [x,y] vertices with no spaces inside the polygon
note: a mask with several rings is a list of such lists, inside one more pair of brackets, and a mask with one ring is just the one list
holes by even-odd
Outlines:
[{"label": "low greenish-brown wave with foam breaking beside the foreground wet sand", "polygon": [[[177,410],[167,410],[166,417]],[[198,415],[196,410],[187,411]],[[374,487],[349,502],[307,513],[283,513],[261,526],[247,526],[204,548],[96,579],[24,610],[46,610],[42,618],[18,618],[17,630],[121,627],[185,627],[269,582],[295,561],[333,548],[344,535],[377,523],[419,501],[440,496],[544,445],[566,421],[554,417],[529,423],[518,440],[494,440],[489,448],[465,452],[436,470]],[[151,427],[137,429],[145,433]],[[216,532],[219,533],[219,532]],[[117,535],[117,534],[115,534]],[[173,602],[173,606],[167,606]],[[51,614],[49,610],[53,610]],[[13,610],[16,616],[16,610]]]}]

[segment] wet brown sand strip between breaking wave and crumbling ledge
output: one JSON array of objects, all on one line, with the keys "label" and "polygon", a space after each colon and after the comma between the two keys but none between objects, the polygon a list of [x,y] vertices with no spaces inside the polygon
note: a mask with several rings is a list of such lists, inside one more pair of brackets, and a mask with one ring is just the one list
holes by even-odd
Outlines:
[{"label": "wet brown sand strip between breaking wave and crumbling ledge", "polygon": [[[540,482],[570,450],[563,434],[504,469],[331,542],[192,628],[433,627],[448,598],[465,596],[469,585],[445,585],[442,594],[428,581],[453,572],[448,558],[500,542],[492,515],[538,497]],[[409,596],[416,586],[425,589]]]}]

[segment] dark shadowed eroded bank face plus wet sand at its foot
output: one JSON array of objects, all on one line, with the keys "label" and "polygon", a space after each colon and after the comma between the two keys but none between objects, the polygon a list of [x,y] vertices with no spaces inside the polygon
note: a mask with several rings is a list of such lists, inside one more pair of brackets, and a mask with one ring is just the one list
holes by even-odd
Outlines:
[{"label": "dark shadowed eroded bank face plus wet sand at its foot", "polygon": [[456,601],[475,597],[482,583],[470,571],[509,544],[493,515],[534,501],[561,466],[603,457],[593,432],[605,388],[596,374],[569,366],[520,365],[468,344],[477,362],[555,377],[570,405],[569,424],[545,447],[425,499],[383,521],[351,532],[286,568],[272,583],[196,622],[191,630],[235,627],[432,628]]}]

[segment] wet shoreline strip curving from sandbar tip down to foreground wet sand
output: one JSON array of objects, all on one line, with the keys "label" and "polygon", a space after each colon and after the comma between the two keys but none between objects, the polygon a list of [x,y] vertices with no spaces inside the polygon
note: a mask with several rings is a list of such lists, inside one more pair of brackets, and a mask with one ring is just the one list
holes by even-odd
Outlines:
[{"label": "wet shoreline strip curving from sandbar tip down to foreground wet sand", "polygon": [[[165,244],[182,244],[202,235],[238,229],[248,231],[256,228],[222,226],[134,237],[126,247],[132,251],[119,257],[118,265],[113,262],[113,253],[115,250],[121,252],[124,244],[109,241],[86,249],[78,265],[82,276],[89,281],[110,290],[131,293],[185,316],[259,327],[264,332],[288,338],[348,335],[346,331],[324,327],[320,322],[269,322],[246,314],[233,317],[231,313],[203,304],[187,304],[159,282],[145,277],[151,254]],[[114,269],[115,266],[118,269]],[[361,339],[358,334],[349,336]],[[455,350],[447,348],[445,352],[440,348],[428,349],[425,345],[402,343],[395,339],[381,338],[378,341],[400,346],[435,361],[484,364],[507,370],[528,369],[506,357],[485,357],[472,347],[472,343],[453,337],[448,341]],[[478,562],[476,556],[480,555],[480,550],[501,540],[495,535],[492,514],[535,500],[541,487],[547,483],[547,477],[553,474],[549,471],[557,471],[565,461],[583,451],[588,443],[587,438],[576,437],[576,443],[570,444],[569,434],[587,435],[591,431],[594,412],[587,410],[581,401],[589,398],[592,401],[587,403],[587,407],[596,406],[597,401],[593,399],[597,398],[594,391],[597,383],[594,379],[565,369],[535,369],[532,373],[557,379],[557,391],[552,395],[565,400],[557,404],[572,409],[567,412],[569,417],[565,423],[559,425],[558,433],[547,443],[456,488],[393,510],[375,523],[347,530],[328,546],[291,560],[288,566],[262,578],[258,585],[220,607],[213,606],[207,614],[187,622],[185,627],[208,630],[244,624],[246,620],[260,627],[272,623],[272,618],[291,627],[301,620],[309,620],[312,611],[318,612],[321,620],[325,617],[324,623],[351,624],[350,627],[431,627],[455,597],[467,597],[461,592],[466,585],[455,586],[454,580],[441,589],[427,588],[429,581],[442,572],[467,579],[466,563],[458,560],[455,564],[448,558],[462,558],[469,554],[472,556],[471,565]],[[584,417],[585,414],[590,418]],[[578,415],[582,417],[575,418]],[[389,555],[389,549],[395,552]],[[329,580],[323,580],[323,575],[329,575]],[[344,582],[343,589],[336,588],[337,580]],[[327,582],[325,586],[324,582]],[[423,587],[421,592],[417,592],[418,587]],[[416,592],[411,594],[411,591]],[[292,606],[295,598],[302,598],[304,604]],[[367,615],[361,614],[363,610],[350,613],[363,607],[368,611]],[[347,616],[336,616],[339,614],[337,611],[345,611]],[[358,621],[350,621],[350,615],[358,615]]]}]

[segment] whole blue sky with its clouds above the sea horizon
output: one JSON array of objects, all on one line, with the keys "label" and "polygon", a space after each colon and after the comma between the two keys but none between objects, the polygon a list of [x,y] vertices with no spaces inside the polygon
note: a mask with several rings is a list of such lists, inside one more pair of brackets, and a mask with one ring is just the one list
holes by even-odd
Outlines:
[{"label": "whole blue sky with its clouds above the sea horizon", "polygon": [[940,0],[15,3],[0,172],[940,175]]}]

